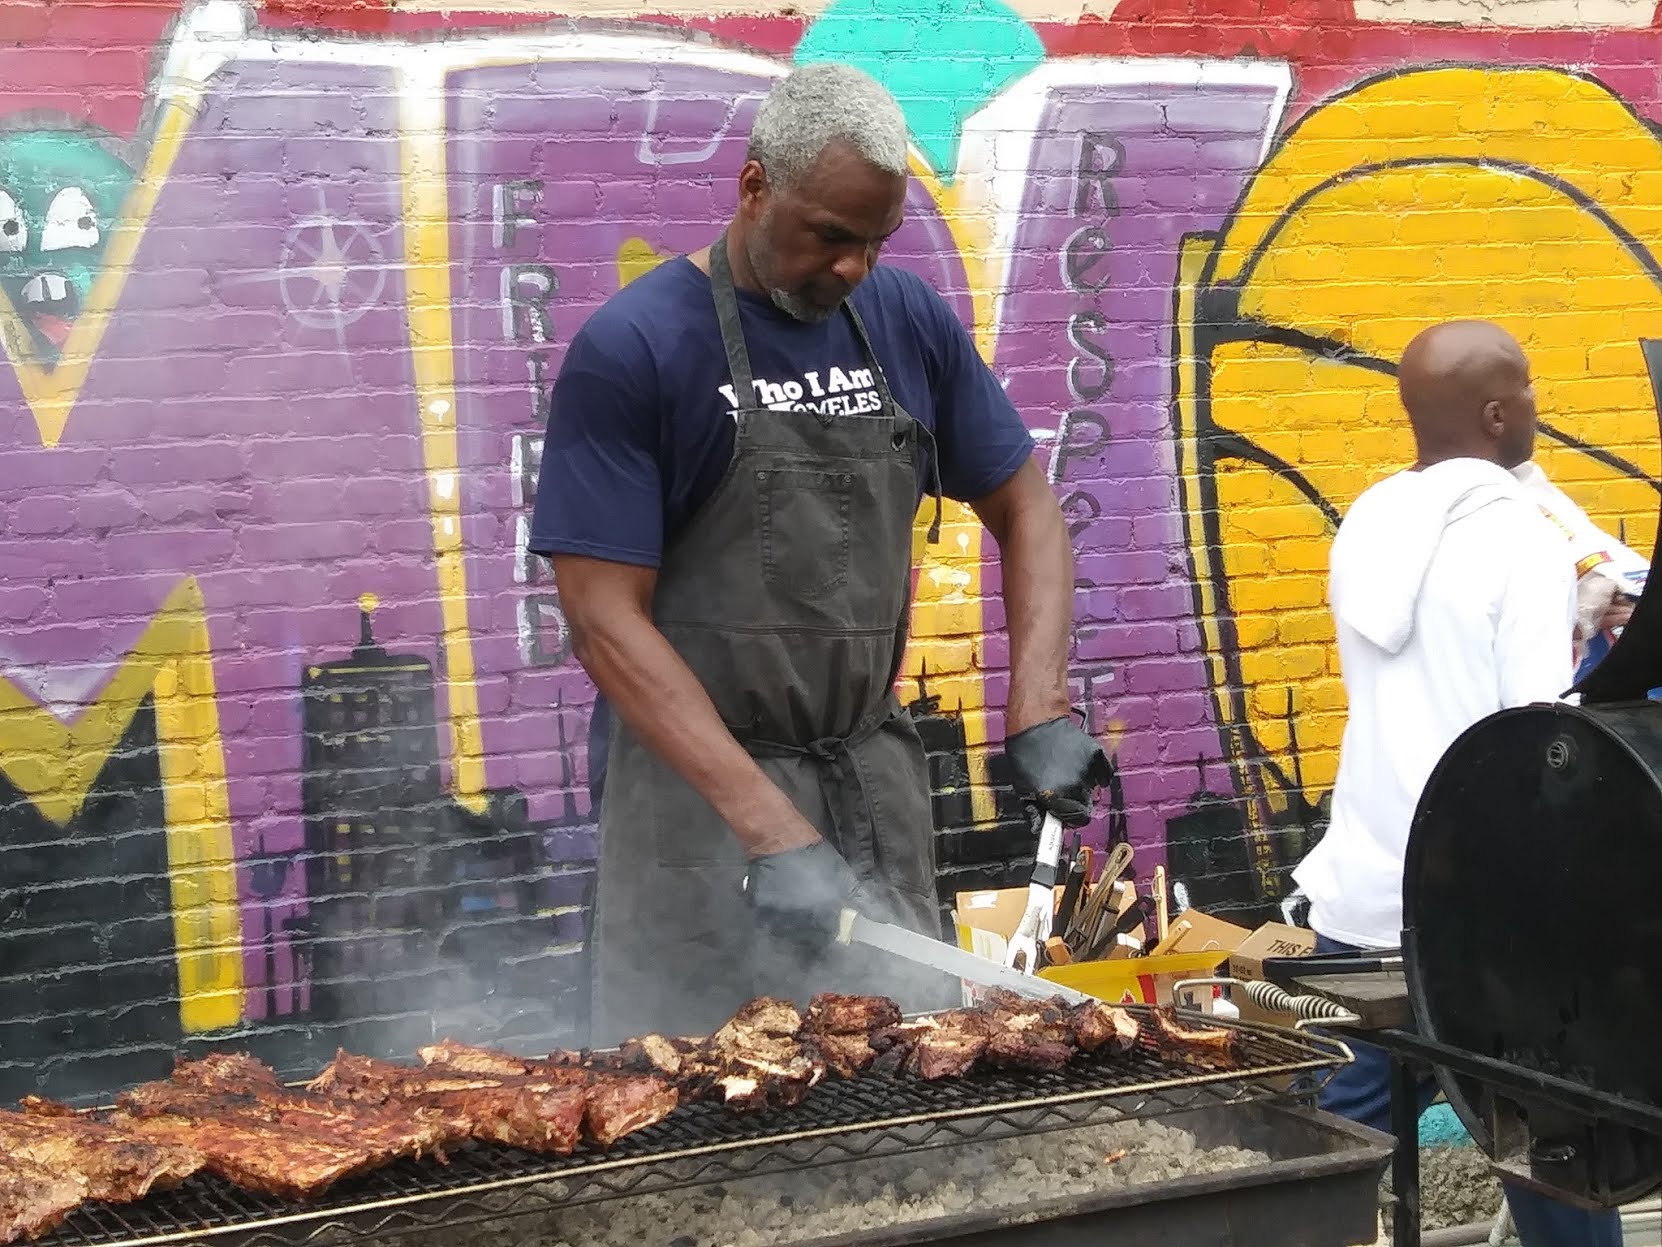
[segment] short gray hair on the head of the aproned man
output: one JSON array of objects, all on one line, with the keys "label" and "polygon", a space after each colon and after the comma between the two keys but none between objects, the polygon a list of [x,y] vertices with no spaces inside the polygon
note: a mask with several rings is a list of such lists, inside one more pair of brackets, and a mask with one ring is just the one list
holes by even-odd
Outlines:
[{"label": "short gray hair on the head of the aproned man", "polygon": [[756,110],[750,160],[789,190],[831,143],[848,143],[884,173],[907,171],[906,115],[883,83],[853,65],[816,62],[781,78]]}]

